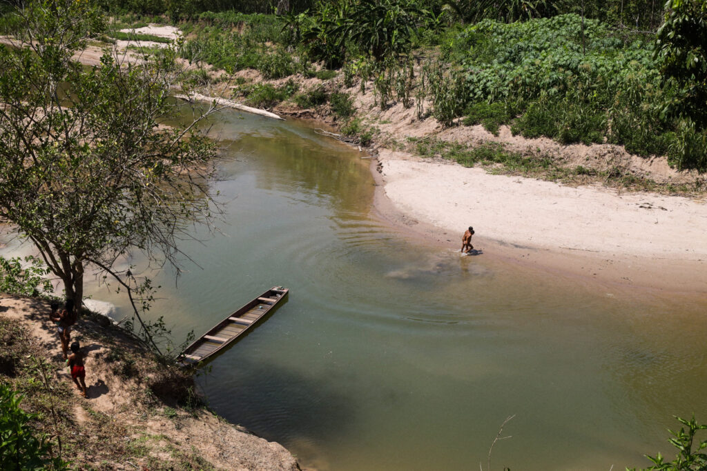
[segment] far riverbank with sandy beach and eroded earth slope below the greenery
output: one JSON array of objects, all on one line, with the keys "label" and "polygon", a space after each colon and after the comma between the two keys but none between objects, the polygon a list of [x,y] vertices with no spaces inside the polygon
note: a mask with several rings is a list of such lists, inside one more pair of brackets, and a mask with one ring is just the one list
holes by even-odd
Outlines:
[{"label": "far riverbank with sandy beach and eroded earth slope below the greenery", "polygon": [[[181,34],[159,25],[139,32],[166,39]],[[117,54],[129,52],[127,43],[115,47]],[[95,58],[81,57],[90,64],[86,59]],[[350,97],[358,132],[370,133],[378,146],[368,149],[376,157],[376,210],[411,234],[455,248],[464,228],[473,225],[477,246],[490,248],[485,256],[632,287],[707,291],[705,179],[694,171],[677,171],[666,157],[638,157],[606,143],[523,138],[509,126],[500,126],[496,134],[462,122],[445,127],[402,102],[380,107],[372,83],[347,87],[341,71],[327,79],[297,73],[268,81],[250,68],[227,76],[204,67],[216,83],[202,91],[218,100],[232,94],[245,98],[240,94],[250,84],[279,90],[292,83],[305,95],[323,90]],[[208,100],[207,95],[199,97]],[[270,109],[322,120],[332,130],[346,124],[333,104],[306,108],[291,97]],[[450,157],[488,145],[528,157],[530,164],[519,168],[481,160],[467,167]],[[544,159],[551,160],[549,169],[533,167],[533,160]]]}]

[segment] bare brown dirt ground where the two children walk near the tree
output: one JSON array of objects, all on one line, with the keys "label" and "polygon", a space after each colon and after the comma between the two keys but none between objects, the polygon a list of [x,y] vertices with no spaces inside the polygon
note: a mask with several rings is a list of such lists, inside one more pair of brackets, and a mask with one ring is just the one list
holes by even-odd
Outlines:
[{"label": "bare brown dirt ground where the two children walk near the tree", "polygon": [[[53,369],[56,381],[62,386],[72,385],[73,390],[66,368],[59,366],[63,363],[61,345],[48,312],[49,305],[43,300],[0,295],[0,318],[27,328],[49,363],[56,366]],[[160,463],[159,469],[169,466],[189,469],[194,465],[221,470],[300,469],[291,453],[279,443],[254,436],[203,407],[185,410],[157,400],[146,386],[148,381],[140,378],[154,374],[150,367],[139,369],[139,373],[136,370],[133,375],[117,374],[116,371],[125,371],[136,362],[151,360],[112,326],[100,326],[93,318],[82,318],[72,338],[80,340],[83,350],[88,352],[88,399],[74,394],[65,405],[74,416],[70,433],[93,437],[90,444],[71,457],[75,465],[111,470],[134,470],[140,466],[151,469],[154,463]],[[134,367],[141,368],[139,364]],[[95,434],[106,427],[124,436],[112,436],[105,443],[97,443]],[[110,443],[112,440],[117,442]],[[113,461],[110,461],[111,448],[121,450]],[[185,465],[189,467],[184,468]]]}]

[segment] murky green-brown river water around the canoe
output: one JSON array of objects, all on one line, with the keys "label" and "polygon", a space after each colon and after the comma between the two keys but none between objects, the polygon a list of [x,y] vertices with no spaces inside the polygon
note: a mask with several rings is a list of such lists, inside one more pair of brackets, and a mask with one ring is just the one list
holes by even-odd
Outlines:
[{"label": "murky green-brown river water around the canoe", "polygon": [[[648,465],[672,415],[707,422],[707,302],[461,258],[370,217],[368,160],[296,122],[225,112],[223,234],[158,280],[177,337],[272,285],[288,302],[199,383],[322,470]],[[460,237],[461,231],[460,228]],[[198,232],[198,231],[197,231]],[[103,288],[98,299],[121,303]]]}]

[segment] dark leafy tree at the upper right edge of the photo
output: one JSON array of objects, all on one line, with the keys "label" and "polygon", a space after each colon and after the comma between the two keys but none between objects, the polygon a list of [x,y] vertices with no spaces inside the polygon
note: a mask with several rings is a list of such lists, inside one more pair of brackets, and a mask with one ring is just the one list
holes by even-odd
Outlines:
[{"label": "dark leafy tree at the upper right edge of the photo", "polygon": [[707,127],[707,2],[668,0],[658,29],[655,58],[666,85],[679,92],[668,111]]}]

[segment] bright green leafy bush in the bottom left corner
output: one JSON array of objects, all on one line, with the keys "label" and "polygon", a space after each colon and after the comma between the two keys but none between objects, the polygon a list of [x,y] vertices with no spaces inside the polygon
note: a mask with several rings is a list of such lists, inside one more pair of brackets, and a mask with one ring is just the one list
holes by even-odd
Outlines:
[{"label": "bright green leafy bush in the bottom left corner", "polygon": [[0,469],[68,470],[68,463],[53,456],[49,436],[35,435],[28,425],[37,415],[21,409],[22,398],[0,384]]}]

